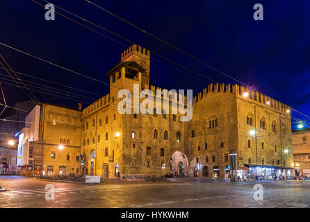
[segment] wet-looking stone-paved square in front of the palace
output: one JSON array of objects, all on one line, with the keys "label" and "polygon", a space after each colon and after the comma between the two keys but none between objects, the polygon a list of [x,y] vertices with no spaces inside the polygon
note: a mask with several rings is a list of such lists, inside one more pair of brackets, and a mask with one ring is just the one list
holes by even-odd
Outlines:
[{"label": "wet-looking stone-paved square in front of the palace", "polygon": [[[263,200],[254,200],[255,184]],[[54,185],[55,200],[47,201],[45,185]],[[178,178],[165,182],[109,181],[81,185],[0,176],[0,207],[310,207],[310,182]]]}]

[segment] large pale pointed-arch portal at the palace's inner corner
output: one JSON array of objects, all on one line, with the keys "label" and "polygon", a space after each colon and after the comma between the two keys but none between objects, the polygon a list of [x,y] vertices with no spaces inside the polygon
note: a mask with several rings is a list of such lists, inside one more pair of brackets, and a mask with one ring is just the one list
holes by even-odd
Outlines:
[{"label": "large pale pointed-arch portal at the palace's inner corner", "polygon": [[170,158],[170,173],[173,176],[189,175],[188,159],[184,153],[176,151]]}]

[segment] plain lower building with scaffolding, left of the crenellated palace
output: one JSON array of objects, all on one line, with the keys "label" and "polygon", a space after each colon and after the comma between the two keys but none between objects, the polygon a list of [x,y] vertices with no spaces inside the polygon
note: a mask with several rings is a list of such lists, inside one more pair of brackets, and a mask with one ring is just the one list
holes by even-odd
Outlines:
[{"label": "plain lower building with scaffolding, left of the crenellated palace", "polygon": [[49,176],[80,173],[80,154],[81,110],[35,105],[19,133],[17,171]]}]

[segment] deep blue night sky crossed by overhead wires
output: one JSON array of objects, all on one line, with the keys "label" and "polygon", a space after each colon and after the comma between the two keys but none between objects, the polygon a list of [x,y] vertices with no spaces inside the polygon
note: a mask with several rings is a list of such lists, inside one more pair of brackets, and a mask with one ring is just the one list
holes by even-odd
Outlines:
[{"label": "deep blue night sky crossed by overhead wires", "polygon": [[[42,0],[37,1],[46,4]],[[85,0],[50,1],[219,83],[236,83]],[[92,1],[259,92],[310,116],[310,1]],[[255,3],[263,5],[263,21],[253,19]],[[120,54],[126,49],[124,45],[57,14],[55,21],[46,21],[46,10],[30,0],[1,0],[0,7],[0,42],[109,83],[104,74],[120,62]],[[56,11],[70,16],[61,10]],[[83,24],[90,26],[85,22]],[[131,45],[99,28],[95,29],[125,45]],[[76,76],[1,45],[0,53],[15,71],[97,94],[69,89],[70,92],[90,97],[88,102],[83,101],[83,107],[98,99],[99,95],[108,93],[108,87],[104,84]],[[186,72],[186,75],[176,69]],[[10,80],[2,69],[0,74],[6,75],[1,78]],[[68,91],[65,87],[29,76],[19,77],[31,81],[27,84],[40,83]],[[194,89],[195,94],[201,92],[207,83],[212,83],[154,55],[151,57],[150,77],[152,85],[167,89]],[[8,80],[1,79],[10,83]],[[8,105],[28,99],[21,89],[11,85],[4,85],[4,93]],[[77,103],[54,95],[33,93],[44,102]],[[296,112],[292,115],[309,120]]]}]

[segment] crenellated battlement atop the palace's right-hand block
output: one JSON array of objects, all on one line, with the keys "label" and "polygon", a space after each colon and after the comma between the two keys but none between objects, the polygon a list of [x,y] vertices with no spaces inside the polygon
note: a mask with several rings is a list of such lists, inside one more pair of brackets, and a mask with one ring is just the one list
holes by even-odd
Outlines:
[{"label": "crenellated battlement atop the palace's right-hand block", "polygon": [[[245,96],[245,92],[247,93]],[[256,101],[256,103],[261,103],[261,105],[266,106],[266,108],[271,108],[273,110],[277,110],[277,112],[284,112],[285,114],[291,114],[291,108],[275,99],[266,96],[265,94],[261,94],[260,92],[256,92],[252,89],[247,87],[235,84],[225,85],[224,83],[211,83],[208,85],[208,88],[204,88],[202,92],[199,92],[197,96],[194,96],[193,103],[197,103],[198,101],[202,100],[202,98],[208,94],[236,94],[237,98],[243,100],[252,100]]]}]

